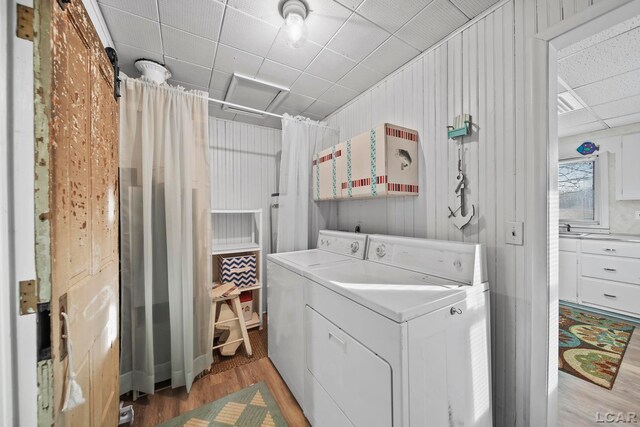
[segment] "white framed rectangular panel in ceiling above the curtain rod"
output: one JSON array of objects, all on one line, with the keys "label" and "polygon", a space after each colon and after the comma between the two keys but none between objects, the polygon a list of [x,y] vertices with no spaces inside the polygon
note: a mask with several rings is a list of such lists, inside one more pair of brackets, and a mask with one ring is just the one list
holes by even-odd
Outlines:
[{"label": "white framed rectangular panel in ceiling above the curtain rod", "polygon": [[289,88],[234,73],[224,100],[238,106],[223,105],[222,109],[230,113],[265,118],[266,114],[248,111],[240,106],[273,112],[288,94]]}]

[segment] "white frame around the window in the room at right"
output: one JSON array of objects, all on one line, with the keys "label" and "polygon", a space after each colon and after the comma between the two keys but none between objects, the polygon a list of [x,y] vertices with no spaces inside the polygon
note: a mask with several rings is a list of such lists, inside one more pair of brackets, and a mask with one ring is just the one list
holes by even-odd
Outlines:
[{"label": "white frame around the window in the room at right", "polygon": [[[560,225],[570,224],[571,228],[588,228],[609,230],[609,155],[606,151],[584,157],[561,158],[558,161],[558,169],[567,163],[593,162],[595,179],[593,183],[593,220],[563,219],[560,217],[561,210],[558,209]],[[559,172],[559,170],[558,170]],[[558,176],[559,178],[559,176]],[[560,191],[558,190],[558,202]],[[559,207],[559,203],[558,203]]]}]

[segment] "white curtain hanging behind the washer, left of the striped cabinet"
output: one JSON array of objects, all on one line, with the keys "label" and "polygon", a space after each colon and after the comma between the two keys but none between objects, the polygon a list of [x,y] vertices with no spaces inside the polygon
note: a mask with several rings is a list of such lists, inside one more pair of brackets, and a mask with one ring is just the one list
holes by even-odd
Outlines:
[{"label": "white curtain hanging behind the washer, left of the striped cabinet", "polygon": [[339,137],[325,122],[284,115],[277,252],[315,247],[319,229],[337,226],[336,202],[313,201],[311,162],[314,153],[337,144]]}]

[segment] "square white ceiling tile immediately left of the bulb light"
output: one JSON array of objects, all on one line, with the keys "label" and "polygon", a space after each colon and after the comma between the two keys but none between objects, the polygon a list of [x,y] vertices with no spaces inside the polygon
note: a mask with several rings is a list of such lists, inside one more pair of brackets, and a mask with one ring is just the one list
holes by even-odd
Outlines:
[{"label": "square white ceiling tile immediately left of the bulb light", "polygon": [[228,46],[264,57],[269,52],[277,34],[277,27],[236,9],[227,8],[220,41]]}]

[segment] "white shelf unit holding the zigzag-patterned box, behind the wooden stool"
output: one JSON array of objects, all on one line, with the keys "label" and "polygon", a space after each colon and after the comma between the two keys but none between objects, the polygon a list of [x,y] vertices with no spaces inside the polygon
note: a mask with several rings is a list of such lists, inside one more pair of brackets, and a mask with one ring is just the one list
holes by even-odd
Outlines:
[{"label": "white shelf unit holding the zigzag-patterned box, behind the wooden stool", "polygon": [[[215,217],[225,216],[231,218],[232,223],[247,222],[250,224],[248,228],[241,228],[248,231],[247,235],[229,235],[229,230],[225,230],[225,238],[216,240],[222,230],[216,230]],[[251,292],[253,297],[253,315],[251,320],[247,322],[247,328],[258,327],[262,329],[262,286],[264,277],[262,259],[262,209],[212,209],[212,236],[214,240],[211,243],[211,261],[212,261],[212,279],[213,283],[219,283],[218,279],[218,257],[221,255],[241,255],[252,254],[256,257],[256,276],[258,280],[253,286],[239,288],[240,292]],[[244,221],[244,222],[243,222]],[[223,223],[224,224],[224,223]],[[230,227],[233,228],[233,227]]]}]

